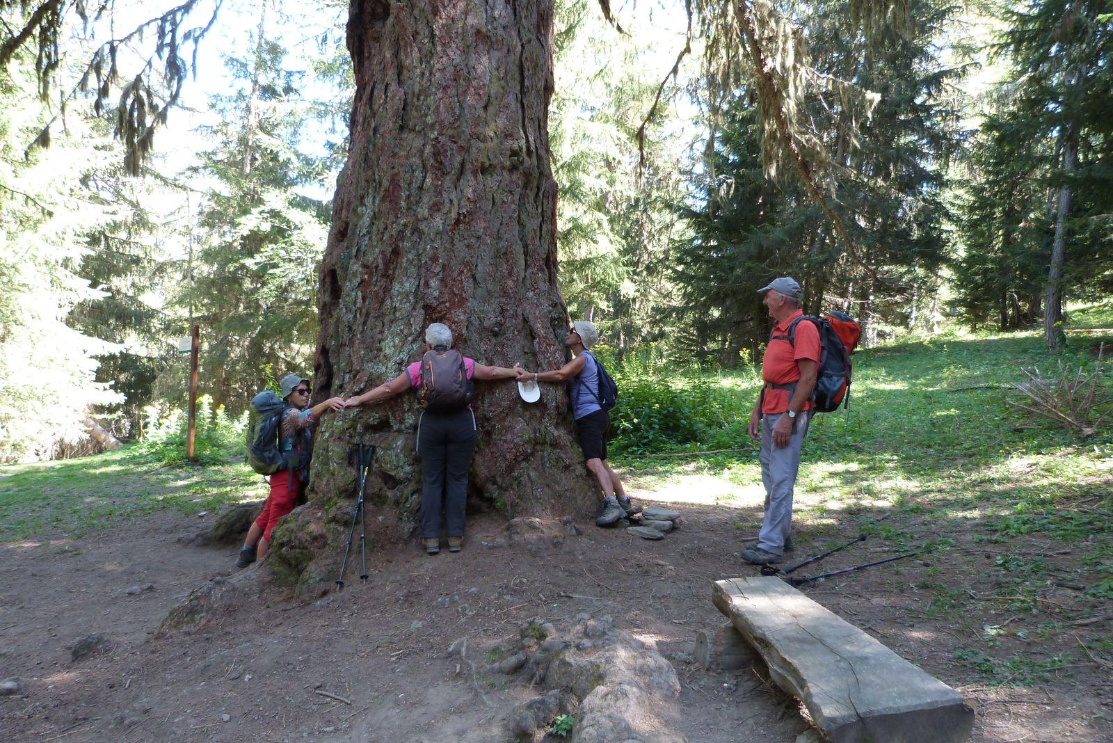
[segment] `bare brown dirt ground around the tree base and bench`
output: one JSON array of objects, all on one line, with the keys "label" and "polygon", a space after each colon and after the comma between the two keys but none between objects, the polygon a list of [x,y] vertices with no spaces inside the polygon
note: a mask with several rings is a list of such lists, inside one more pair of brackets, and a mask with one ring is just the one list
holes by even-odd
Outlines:
[{"label": "bare brown dirt ground around the tree base and bench", "polygon": [[[471,657],[482,661],[529,617],[563,622],[587,612],[613,616],[672,662],[682,687],[679,732],[688,741],[795,741],[808,723],[762,670],[708,672],[690,656],[698,630],[725,624],[711,582],[757,573],[737,557],[747,535],[736,525],[759,517],[760,493],[736,493],[727,503],[718,487],[693,476],[647,493],[682,513],[682,526],[658,542],[595,528],[580,515],[583,534],[560,546],[504,544],[501,517],[472,518],[460,554],[427,557],[414,544],[388,545],[368,555],[366,585],[356,571],[342,593],[319,601],[298,603],[274,590],[269,601],[191,633],[156,631],[191,588],[232,572],[234,547],[176,541],[211,516],[164,513],[72,542],[2,544],[0,681],[14,677],[21,691],[0,697],[0,740],[504,741],[504,717],[529,690],[513,677],[473,680],[446,648],[467,637]],[[792,557],[845,536],[804,527]],[[825,565],[876,558],[880,549],[867,542]],[[993,556],[957,535],[945,558],[804,591],[958,688],[976,712],[974,741],[1113,740],[1113,685],[1102,662],[997,686],[956,663],[968,631],[933,618],[929,596],[914,586],[940,559],[958,558]],[[132,586],[138,594],[127,593]],[[1012,628],[1036,622],[1021,618]],[[110,636],[116,650],[72,661],[70,648],[89,633]],[[1078,655],[1078,643],[1107,634],[1109,618],[1040,642]]]}]

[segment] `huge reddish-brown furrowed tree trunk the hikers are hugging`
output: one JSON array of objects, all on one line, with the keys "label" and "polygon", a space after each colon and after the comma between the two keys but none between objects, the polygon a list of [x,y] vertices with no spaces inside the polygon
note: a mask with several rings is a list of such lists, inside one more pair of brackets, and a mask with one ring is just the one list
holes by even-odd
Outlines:
[{"label": "huge reddish-brown furrowed tree trunk the hikers are hugging", "polygon": [[[551,0],[352,0],[347,32],[356,93],[321,267],[314,402],[393,378],[434,321],[481,363],[560,366]],[[564,390],[542,387],[526,405],[513,382],[476,384],[470,507],[570,513],[592,502]],[[357,442],[377,446],[368,502],[397,518],[395,534],[412,532],[417,418],[412,395],[325,416],[308,506],[276,539],[279,566],[303,583],[335,577]]]}]

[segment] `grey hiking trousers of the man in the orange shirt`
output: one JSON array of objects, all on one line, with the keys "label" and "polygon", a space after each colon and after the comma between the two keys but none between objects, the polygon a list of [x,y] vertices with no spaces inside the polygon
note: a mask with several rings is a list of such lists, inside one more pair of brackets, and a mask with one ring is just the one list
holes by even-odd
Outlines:
[{"label": "grey hiking trousers of the man in the orange shirt", "polygon": [[761,418],[761,482],[766,487],[765,519],[758,534],[758,548],[774,555],[785,554],[785,542],[792,531],[792,491],[800,469],[800,449],[808,435],[811,410],[796,416],[796,430],[788,446],[779,448],[772,442],[772,427],[784,416],[766,415]]}]

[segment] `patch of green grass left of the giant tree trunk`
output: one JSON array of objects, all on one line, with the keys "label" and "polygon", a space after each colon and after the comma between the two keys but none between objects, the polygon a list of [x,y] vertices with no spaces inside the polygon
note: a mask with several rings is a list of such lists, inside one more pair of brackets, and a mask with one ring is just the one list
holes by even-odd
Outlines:
[{"label": "patch of green grass left of the giant tree trunk", "polygon": [[164,508],[193,514],[265,497],[237,460],[162,467],[137,447],[0,467],[0,542],[79,537]]}]

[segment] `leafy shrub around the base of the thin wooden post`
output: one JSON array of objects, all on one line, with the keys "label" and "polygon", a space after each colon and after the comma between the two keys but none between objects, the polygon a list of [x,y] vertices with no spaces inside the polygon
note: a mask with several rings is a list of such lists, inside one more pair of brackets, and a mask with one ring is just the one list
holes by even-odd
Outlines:
[{"label": "leafy shrub around the base of the thin wooden post", "polygon": [[[226,464],[242,457],[246,446],[247,414],[238,420],[230,417],[224,407],[213,410],[213,398],[203,395],[197,398],[197,422],[194,428],[194,456],[198,464]],[[147,408],[147,425],[144,440],[136,446],[136,453],[150,462],[166,467],[186,464],[186,442],[189,420],[185,410],[173,410],[159,417],[155,408]]]}]

